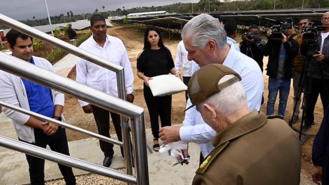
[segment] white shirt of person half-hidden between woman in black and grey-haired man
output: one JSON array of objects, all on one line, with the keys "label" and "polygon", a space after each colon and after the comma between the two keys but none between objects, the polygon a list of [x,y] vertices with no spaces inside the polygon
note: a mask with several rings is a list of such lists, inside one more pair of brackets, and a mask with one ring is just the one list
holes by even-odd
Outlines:
[{"label": "white shirt of person half-hidden between woman in black and grey-haired man", "polygon": [[182,68],[183,76],[190,77],[193,74],[191,66],[194,63],[194,61],[188,61],[187,54],[188,54],[188,52],[186,51],[186,49],[184,47],[184,42],[183,42],[183,40],[181,40],[177,46],[175,68],[177,71],[179,71]]}]

